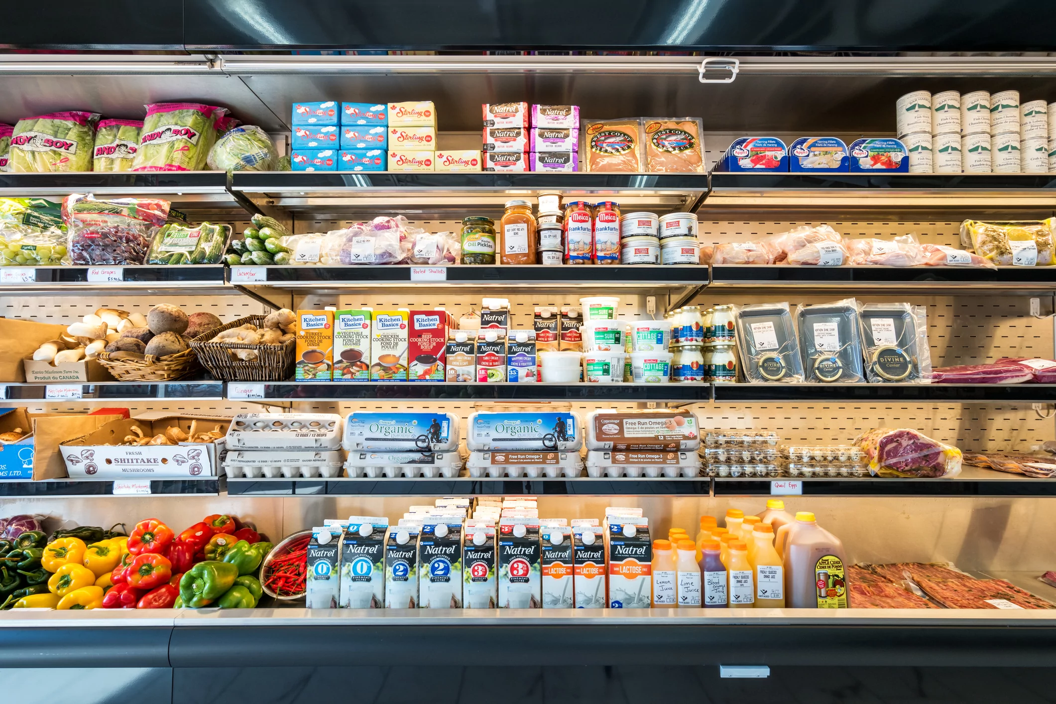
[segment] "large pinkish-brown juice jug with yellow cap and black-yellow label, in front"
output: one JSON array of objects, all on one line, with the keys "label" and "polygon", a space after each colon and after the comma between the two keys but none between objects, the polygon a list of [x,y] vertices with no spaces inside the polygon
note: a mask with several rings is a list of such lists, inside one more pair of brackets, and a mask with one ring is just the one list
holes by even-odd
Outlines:
[{"label": "large pinkish-brown juice jug with yellow cap and black-yellow label, in front", "polygon": [[795,530],[786,533],[784,567],[790,608],[847,608],[844,544],[818,526],[814,514],[796,514]]}]

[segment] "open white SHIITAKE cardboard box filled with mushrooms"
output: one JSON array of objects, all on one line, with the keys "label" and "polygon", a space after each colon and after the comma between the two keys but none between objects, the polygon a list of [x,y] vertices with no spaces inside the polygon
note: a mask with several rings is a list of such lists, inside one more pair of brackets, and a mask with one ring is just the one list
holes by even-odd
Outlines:
[{"label": "open white SHIITAKE cardboard box filled with mushrooms", "polygon": [[59,443],[67,473],[78,479],[192,479],[212,477],[221,473],[224,439],[215,442],[181,442],[175,445],[126,445],[127,436],[138,427],[146,437],[164,435],[170,426],[190,433],[192,422],[196,433],[220,425],[226,434],[230,419],[209,415],[170,416],[159,413],[142,414],[129,420],[112,420],[96,431]]}]

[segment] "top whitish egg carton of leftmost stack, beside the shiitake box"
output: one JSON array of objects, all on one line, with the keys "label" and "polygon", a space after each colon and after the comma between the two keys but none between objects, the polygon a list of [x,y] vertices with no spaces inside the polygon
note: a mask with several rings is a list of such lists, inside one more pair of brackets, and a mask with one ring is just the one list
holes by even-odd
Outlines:
[{"label": "top whitish egg carton of leftmost stack, beside the shiitake box", "polygon": [[227,429],[229,450],[338,450],[341,416],[335,413],[245,413]]}]

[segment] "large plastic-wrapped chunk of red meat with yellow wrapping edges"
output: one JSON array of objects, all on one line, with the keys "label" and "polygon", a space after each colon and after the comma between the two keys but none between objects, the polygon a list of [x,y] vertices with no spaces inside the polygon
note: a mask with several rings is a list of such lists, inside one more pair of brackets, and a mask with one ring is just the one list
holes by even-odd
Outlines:
[{"label": "large plastic-wrapped chunk of red meat with yellow wrapping edges", "polygon": [[876,477],[956,477],[961,451],[908,427],[880,427],[854,438]]}]

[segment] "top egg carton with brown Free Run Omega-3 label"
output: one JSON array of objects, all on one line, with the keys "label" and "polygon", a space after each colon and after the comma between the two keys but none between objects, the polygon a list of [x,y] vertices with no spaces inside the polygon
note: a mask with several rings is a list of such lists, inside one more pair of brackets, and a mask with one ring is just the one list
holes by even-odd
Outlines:
[{"label": "top egg carton with brown Free Run Omega-3 label", "polygon": [[700,424],[689,411],[591,411],[588,450],[696,450]]}]

